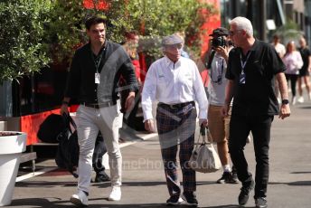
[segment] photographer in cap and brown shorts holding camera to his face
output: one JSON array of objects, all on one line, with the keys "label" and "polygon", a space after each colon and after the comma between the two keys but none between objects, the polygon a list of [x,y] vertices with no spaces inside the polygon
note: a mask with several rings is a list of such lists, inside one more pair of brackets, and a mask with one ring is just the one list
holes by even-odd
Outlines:
[{"label": "photographer in cap and brown shorts holding camera to his face", "polygon": [[229,31],[226,28],[219,27],[213,30],[210,36],[212,36],[210,43],[212,44],[212,51],[210,52],[208,63],[210,74],[208,85],[210,103],[208,120],[210,120],[209,129],[212,134],[212,141],[217,143],[218,154],[223,168],[223,175],[217,180],[217,183],[237,184],[237,175],[234,172],[232,173],[229,163],[228,138],[230,116],[224,118],[221,113],[227,84],[225,78],[227,61],[233,45],[228,39]]}]

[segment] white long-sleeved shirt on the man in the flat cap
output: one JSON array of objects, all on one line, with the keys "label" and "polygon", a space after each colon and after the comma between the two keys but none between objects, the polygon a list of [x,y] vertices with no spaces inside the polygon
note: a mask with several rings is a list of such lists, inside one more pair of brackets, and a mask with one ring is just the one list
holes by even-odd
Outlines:
[{"label": "white long-sleeved shirt on the man in the flat cap", "polygon": [[152,102],[155,100],[165,104],[197,101],[199,118],[207,118],[208,102],[203,80],[190,59],[181,57],[174,63],[165,56],[151,64],[142,92],[144,122],[153,118]]}]

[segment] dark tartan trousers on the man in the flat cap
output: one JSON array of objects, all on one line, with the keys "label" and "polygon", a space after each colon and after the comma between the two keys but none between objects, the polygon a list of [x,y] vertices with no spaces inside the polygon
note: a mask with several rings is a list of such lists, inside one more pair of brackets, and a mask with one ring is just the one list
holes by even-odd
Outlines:
[{"label": "dark tartan trousers on the man in the flat cap", "polygon": [[176,170],[178,144],[184,193],[193,193],[196,190],[195,171],[188,165],[193,152],[196,117],[197,113],[193,104],[176,109],[158,105],[156,109],[156,125],[165,167],[166,185],[171,196],[181,194]]}]

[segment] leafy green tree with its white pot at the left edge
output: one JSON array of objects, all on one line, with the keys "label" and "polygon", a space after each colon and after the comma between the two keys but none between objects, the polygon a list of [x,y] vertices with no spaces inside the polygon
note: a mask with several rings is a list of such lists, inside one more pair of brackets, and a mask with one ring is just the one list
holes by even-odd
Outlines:
[{"label": "leafy green tree with its white pot at the left edge", "polygon": [[[0,120],[12,117],[12,85],[49,62],[42,44],[51,1],[2,0],[0,3]],[[4,118],[1,118],[3,116]],[[0,206],[12,201],[26,134],[0,129]]]}]

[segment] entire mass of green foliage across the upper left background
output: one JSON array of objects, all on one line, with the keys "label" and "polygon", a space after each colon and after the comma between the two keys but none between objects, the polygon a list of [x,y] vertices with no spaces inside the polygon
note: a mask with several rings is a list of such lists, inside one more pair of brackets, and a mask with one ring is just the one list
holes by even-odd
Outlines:
[{"label": "entire mass of green foliage across the upper left background", "polygon": [[[100,9],[105,2],[107,9]],[[202,24],[217,11],[200,0],[2,0],[0,3],[0,82],[33,74],[53,61],[70,61],[87,42],[84,22],[91,15],[107,19],[107,37],[122,43],[124,33],[137,31],[140,50],[161,55],[164,35],[184,32],[193,55],[200,55]]]}]

